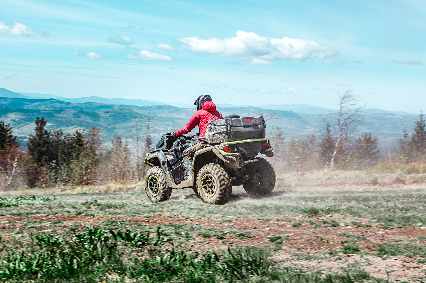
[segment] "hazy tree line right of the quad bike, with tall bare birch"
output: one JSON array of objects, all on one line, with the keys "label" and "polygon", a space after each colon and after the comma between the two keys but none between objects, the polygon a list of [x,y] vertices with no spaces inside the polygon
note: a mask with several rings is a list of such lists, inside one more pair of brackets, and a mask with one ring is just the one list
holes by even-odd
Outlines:
[{"label": "hazy tree line right of the quad bike, with tall bare birch", "polygon": [[[426,160],[426,126],[423,114],[409,134],[405,128],[399,145],[389,152],[380,152],[377,137],[365,132],[357,136],[357,126],[363,124],[363,109],[359,97],[351,90],[339,97],[339,107],[328,115],[322,134],[301,134],[286,141],[281,128],[271,133],[275,156],[271,159],[279,172],[304,172],[321,169],[367,169],[377,163],[393,161],[412,163]],[[331,126],[333,125],[333,126]]]}]

